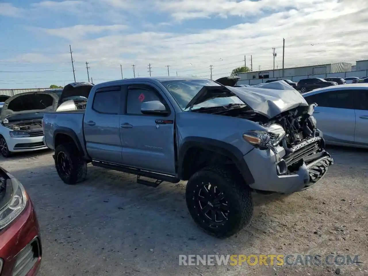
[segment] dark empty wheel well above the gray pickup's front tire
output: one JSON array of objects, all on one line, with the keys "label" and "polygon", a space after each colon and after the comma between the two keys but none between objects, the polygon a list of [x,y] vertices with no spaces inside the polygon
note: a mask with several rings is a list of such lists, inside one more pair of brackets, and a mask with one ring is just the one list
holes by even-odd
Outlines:
[{"label": "dark empty wheel well above the gray pickup's front tire", "polygon": [[231,166],[240,173],[235,163],[228,156],[216,151],[192,147],[185,152],[182,164],[183,167],[181,170],[181,179],[188,180],[196,171],[213,165]]}]

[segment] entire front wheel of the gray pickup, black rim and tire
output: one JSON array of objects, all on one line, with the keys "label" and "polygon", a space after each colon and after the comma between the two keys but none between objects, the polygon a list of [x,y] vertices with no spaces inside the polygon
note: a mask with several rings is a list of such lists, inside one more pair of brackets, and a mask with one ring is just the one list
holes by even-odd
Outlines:
[{"label": "entire front wheel of the gray pickup, black rim and tire", "polygon": [[226,238],[247,226],[253,213],[251,191],[232,170],[206,167],[188,180],[187,206],[208,234]]}]

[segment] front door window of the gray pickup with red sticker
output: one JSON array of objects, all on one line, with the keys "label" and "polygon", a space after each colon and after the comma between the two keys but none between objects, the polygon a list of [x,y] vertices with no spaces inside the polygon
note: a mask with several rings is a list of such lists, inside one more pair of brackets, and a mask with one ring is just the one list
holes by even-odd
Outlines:
[{"label": "front door window of the gray pickup with red sticker", "polygon": [[158,93],[151,88],[129,88],[127,95],[127,114],[143,115],[141,105],[144,102],[160,99]]}]

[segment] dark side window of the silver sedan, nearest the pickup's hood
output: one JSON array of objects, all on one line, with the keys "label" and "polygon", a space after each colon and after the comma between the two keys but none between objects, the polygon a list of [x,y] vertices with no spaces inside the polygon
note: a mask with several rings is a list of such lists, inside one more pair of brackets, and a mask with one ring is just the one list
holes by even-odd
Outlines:
[{"label": "dark side window of the silver sedan, nearest the pickup's hood", "polygon": [[322,92],[305,97],[305,100],[309,104],[316,103],[322,107],[354,109],[353,95],[350,90]]}]

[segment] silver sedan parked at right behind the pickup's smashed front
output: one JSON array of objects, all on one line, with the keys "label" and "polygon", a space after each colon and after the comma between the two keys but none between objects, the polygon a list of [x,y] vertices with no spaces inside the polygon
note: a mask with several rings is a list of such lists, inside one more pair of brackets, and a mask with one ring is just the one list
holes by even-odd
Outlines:
[{"label": "silver sedan parked at right behind the pickup's smashed front", "polygon": [[304,93],[327,144],[368,148],[368,84],[335,85]]}]

